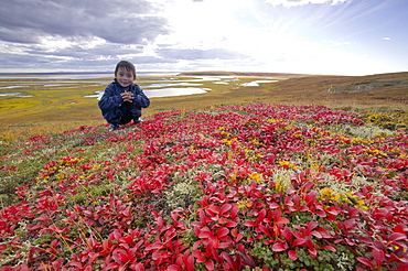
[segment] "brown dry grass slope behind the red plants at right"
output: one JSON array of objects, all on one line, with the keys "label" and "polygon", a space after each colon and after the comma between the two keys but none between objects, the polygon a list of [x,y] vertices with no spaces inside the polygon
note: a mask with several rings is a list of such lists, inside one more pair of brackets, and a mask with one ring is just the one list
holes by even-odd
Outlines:
[{"label": "brown dry grass slope behind the red plants at right", "polygon": [[[207,75],[211,75],[207,73]],[[251,75],[251,74],[249,74]],[[254,77],[239,77],[254,80]],[[282,77],[280,77],[282,78]],[[371,83],[376,80],[408,80],[408,73],[373,76],[304,76],[282,79],[275,84],[260,84],[259,87],[228,88],[224,93],[212,91],[205,97],[178,97],[176,106],[195,108],[219,104],[270,102],[289,105],[324,105],[332,108],[407,110],[408,83],[402,86],[386,86],[359,93],[329,91],[336,86]],[[165,100],[170,105],[173,102]],[[162,104],[162,99],[155,100]]]}]

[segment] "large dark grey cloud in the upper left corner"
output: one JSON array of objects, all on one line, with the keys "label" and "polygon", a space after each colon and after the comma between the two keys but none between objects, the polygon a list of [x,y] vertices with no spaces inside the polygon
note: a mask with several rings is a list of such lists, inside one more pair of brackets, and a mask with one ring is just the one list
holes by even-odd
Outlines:
[{"label": "large dark grey cloud in the upper left corner", "polygon": [[111,43],[146,43],[167,34],[167,20],[155,15],[148,0],[3,0],[0,7],[0,40],[41,43],[55,36],[104,39]]}]

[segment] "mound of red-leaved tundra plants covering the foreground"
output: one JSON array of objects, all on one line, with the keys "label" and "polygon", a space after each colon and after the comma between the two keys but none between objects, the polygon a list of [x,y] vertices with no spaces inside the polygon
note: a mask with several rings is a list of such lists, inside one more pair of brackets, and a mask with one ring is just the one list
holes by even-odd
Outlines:
[{"label": "mound of red-leaved tundra plants covering the foreground", "polygon": [[4,150],[1,270],[408,268],[406,130],[268,104],[107,129]]}]

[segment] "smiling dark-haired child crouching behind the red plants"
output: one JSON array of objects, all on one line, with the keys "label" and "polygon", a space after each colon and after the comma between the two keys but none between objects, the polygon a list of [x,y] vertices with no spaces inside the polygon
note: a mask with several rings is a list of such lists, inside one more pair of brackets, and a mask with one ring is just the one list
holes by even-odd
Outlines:
[{"label": "smiling dark-haired child crouching behind the red plants", "polygon": [[104,118],[110,123],[110,131],[131,120],[135,124],[139,123],[141,109],[150,106],[149,98],[133,80],[136,80],[133,64],[119,62],[116,65],[114,82],[106,87],[98,101]]}]

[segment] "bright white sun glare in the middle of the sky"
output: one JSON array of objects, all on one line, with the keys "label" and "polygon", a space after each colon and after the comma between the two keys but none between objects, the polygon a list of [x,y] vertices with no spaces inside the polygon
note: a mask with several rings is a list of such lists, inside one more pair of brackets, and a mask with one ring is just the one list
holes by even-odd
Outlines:
[{"label": "bright white sun glare in the middle of the sky", "polygon": [[[196,50],[197,54],[225,50],[234,57],[203,59],[197,55],[193,59],[191,55],[189,64],[182,56],[178,64],[172,64],[189,69],[216,65],[213,69],[340,75],[358,75],[362,71],[382,73],[384,59],[369,57],[371,52],[362,51],[352,40],[333,35],[329,26],[321,23],[322,19],[331,23],[330,12],[344,2],[300,0],[261,4],[245,0],[181,0],[164,9],[172,34],[157,41],[173,48]],[[303,13],[298,7],[311,3],[319,8],[315,17]],[[344,7],[339,8],[339,12],[341,9]]]}]

